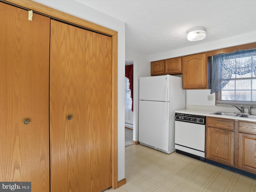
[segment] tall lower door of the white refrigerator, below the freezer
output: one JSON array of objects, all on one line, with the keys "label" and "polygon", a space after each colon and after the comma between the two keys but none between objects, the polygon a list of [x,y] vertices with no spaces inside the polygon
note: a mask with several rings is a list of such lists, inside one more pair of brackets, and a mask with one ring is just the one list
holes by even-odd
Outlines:
[{"label": "tall lower door of the white refrigerator, below the freezer", "polygon": [[169,102],[139,101],[140,144],[171,153],[169,150],[169,107]]}]

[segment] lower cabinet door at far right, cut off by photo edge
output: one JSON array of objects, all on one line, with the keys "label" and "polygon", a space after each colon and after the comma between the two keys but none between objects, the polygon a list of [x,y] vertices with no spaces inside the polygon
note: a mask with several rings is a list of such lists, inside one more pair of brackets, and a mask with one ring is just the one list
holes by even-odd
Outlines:
[{"label": "lower cabinet door at far right, cut off by photo edge", "polygon": [[238,133],[238,168],[256,174],[256,135]]}]

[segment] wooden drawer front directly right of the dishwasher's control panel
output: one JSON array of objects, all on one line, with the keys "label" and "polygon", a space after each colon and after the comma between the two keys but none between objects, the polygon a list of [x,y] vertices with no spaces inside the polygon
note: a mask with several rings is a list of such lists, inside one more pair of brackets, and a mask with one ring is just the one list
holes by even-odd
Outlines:
[{"label": "wooden drawer front directly right of the dishwasher's control panel", "polygon": [[234,120],[207,117],[206,126],[234,130]]}]

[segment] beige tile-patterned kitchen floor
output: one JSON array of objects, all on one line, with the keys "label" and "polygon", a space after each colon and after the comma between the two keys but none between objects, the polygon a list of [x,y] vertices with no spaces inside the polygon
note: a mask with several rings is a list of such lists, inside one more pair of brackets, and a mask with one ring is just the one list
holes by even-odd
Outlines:
[{"label": "beige tile-patterned kitchen floor", "polygon": [[256,192],[256,180],[176,152],[125,148],[126,184],[113,192]]}]

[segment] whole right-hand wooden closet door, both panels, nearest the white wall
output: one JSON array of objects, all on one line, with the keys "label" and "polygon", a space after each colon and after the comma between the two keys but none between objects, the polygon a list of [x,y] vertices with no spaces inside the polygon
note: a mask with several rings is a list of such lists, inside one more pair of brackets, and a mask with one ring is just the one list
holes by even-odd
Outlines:
[{"label": "whole right-hand wooden closet door, both panels, nearest the white wall", "polygon": [[112,185],[111,38],[51,21],[51,192]]}]

